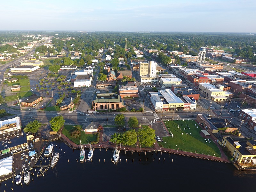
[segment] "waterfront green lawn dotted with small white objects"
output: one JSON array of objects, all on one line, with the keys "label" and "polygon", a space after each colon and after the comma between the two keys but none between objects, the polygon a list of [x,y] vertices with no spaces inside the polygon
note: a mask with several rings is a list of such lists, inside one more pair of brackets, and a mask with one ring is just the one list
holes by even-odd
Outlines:
[{"label": "waterfront green lawn dotted with small white objects", "polygon": [[[180,129],[178,128],[178,124]],[[188,126],[186,126],[188,124]],[[196,128],[196,126],[198,128]],[[194,120],[185,120],[185,121],[166,121],[165,123],[167,129],[169,129],[169,132],[172,131],[173,138],[172,137],[163,137],[163,141],[160,144],[164,148],[170,147],[171,149],[177,149],[188,151],[188,152],[195,152],[205,155],[211,155],[215,154],[217,157],[221,157],[220,150],[214,143],[214,141],[210,140],[211,143],[207,140],[205,142],[204,138],[201,137],[200,132],[201,128],[200,126],[194,121]],[[183,125],[183,126],[181,126]],[[188,127],[190,129],[188,129]],[[184,130],[186,128],[186,130]],[[190,135],[191,132],[191,135]],[[182,135],[183,133],[183,135]],[[186,135],[188,133],[188,135]],[[165,143],[166,142],[166,143]],[[177,145],[177,148],[176,148]],[[209,152],[210,151],[210,152]]]}]

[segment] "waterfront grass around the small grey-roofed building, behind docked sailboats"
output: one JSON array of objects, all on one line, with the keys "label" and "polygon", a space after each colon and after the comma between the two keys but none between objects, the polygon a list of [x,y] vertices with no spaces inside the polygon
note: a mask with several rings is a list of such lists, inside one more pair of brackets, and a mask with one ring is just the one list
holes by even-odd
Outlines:
[{"label": "waterfront grass around the small grey-roofed building, behind docked sailboats", "polygon": [[[68,137],[68,139],[72,140],[74,143],[76,144],[80,144],[80,140],[79,137],[78,138],[72,138],[70,137],[69,134],[69,130],[72,130],[74,128],[75,125],[64,125],[64,128],[62,129],[62,134],[66,135],[66,137]],[[81,125],[79,125],[81,127]],[[82,127],[81,127],[82,129]],[[97,140],[97,135],[93,135],[93,134],[85,134],[84,131],[81,131],[81,142],[82,144],[88,144],[91,140],[92,141],[96,141]]]}]

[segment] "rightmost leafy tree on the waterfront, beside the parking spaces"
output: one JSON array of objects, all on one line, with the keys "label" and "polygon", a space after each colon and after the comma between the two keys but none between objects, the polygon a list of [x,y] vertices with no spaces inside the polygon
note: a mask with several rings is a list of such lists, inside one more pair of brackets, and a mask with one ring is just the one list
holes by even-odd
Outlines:
[{"label": "rightmost leafy tree on the waterfront, beside the parking spaces", "polygon": [[155,130],[150,127],[143,127],[138,130],[139,142],[148,147],[153,146],[155,140]]}]

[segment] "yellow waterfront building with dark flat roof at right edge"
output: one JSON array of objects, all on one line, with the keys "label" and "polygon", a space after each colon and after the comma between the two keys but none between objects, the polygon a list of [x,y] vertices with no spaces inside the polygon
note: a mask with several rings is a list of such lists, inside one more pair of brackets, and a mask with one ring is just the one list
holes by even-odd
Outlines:
[{"label": "yellow waterfront building with dark flat roof at right edge", "polygon": [[228,148],[234,158],[235,166],[246,169],[256,166],[256,141],[245,140],[245,138],[223,137],[219,144]]}]

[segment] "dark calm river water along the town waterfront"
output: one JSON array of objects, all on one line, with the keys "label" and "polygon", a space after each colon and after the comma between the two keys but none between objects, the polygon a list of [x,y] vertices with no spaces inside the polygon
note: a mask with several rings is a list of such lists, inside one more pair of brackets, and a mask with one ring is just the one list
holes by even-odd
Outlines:
[{"label": "dark calm river water along the town waterfront", "polygon": [[[37,172],[34,169],[34,176],[30,176],[31,181],[28,186],[24,185],[23,180],[23,186],[16,186],[9,179],[1,183],[0,191],[12,191],[11,188],[13,191],[19,192],[114,191],[116,189],[118,191],[165,191],[167,189],[168,191],[182,191],[190,189],[208,192],[255,189],[256,171],[237,171],[232,164],[184,156],[169,156],[165,153],[162,155],[153,153],[153,156],[151,153],[146,156],[140,153],[139,156],[138,153],[131,155],[130,152],[126,152],[126,154],[121,152],[121,162],[115,165],[111,162],[113,153],[109,149],[107,151],[95,149],[93,162],[86,161],[81,164],[79,150],[73,152],[61,141],[55,141],[54,144],[54,151],[60,153],[60,159],[53,169],[49,168],[44,177],[37,177]],[[153,158],[155,158],[154,161]],[[78,159],[78,163],[76,159]]]}]

